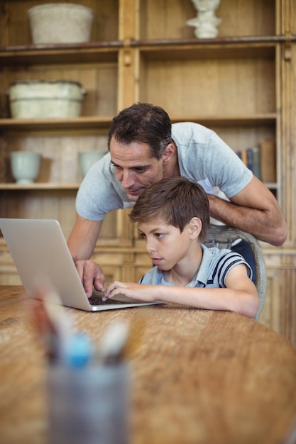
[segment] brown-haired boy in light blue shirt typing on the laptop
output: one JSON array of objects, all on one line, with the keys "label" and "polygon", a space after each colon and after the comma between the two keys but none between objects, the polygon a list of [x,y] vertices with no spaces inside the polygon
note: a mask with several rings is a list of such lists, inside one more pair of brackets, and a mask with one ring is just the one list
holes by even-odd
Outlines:
[{"label": "brown-haired boy in light blue shirt typing on the laptop", "polygon": [[125,294],[256,316],[259,297],[248,263],[236,252],[202,244],[209,201],[199,184],[185,177],[162,179],[138,197],[130,218],[138,222],[155,266],[138,284],[113,282],[105,299]]}]

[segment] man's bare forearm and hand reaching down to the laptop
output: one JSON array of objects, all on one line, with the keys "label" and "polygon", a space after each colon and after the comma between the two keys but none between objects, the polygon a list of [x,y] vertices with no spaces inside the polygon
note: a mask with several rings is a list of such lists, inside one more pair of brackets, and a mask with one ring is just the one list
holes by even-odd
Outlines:
[{"label": "man's bare forearm and hand reaching down to the laptop", "polygon": [[67,241],[84,290],[88,296],[92,296],[93,285],[95,289],[100,291],[105,282],[101,267],[89,260],[94,251],[101,227],[102,221],[89,221],[77,213],[75,226],[72,228]]}]

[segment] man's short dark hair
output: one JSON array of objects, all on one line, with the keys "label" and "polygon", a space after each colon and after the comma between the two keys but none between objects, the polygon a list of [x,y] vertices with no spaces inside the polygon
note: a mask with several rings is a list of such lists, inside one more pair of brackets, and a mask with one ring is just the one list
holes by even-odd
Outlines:
[{"label": "man's short dark hair", "polygon": [[124,145],[136,141],[148,143],[150,156],[159,160],[172,142],[172,123],[168,113],[160,106],[133,104],[113,118],[108,135],[108,150],[112,137]]}]

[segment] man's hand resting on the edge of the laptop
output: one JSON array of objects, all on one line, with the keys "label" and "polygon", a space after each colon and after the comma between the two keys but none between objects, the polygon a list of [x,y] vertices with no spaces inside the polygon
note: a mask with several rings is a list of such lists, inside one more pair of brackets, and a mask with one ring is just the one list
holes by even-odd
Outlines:
[{"label": "man's hand resting on the edge of the laptop", "polygon": [[87,297],[92,296],[92,286],[98,291],[102,292],[106,277],[99,265],[92,260],[76,260],[75,266],[80,276],[82,285],[87,294]]}]

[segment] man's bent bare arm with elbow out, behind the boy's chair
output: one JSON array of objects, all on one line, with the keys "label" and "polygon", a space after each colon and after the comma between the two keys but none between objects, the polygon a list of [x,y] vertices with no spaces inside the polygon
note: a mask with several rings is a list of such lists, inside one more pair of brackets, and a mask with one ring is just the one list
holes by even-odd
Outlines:
[{"label": "man's bent bare arm with elbow out, behind the boy's chair", "polygon": [[230,202],[208,195],[213,218],[228,226],[239,228],[279,247],[287,238],[287,223],[278,201],[270,190],[253,176],[251,182]]}]

